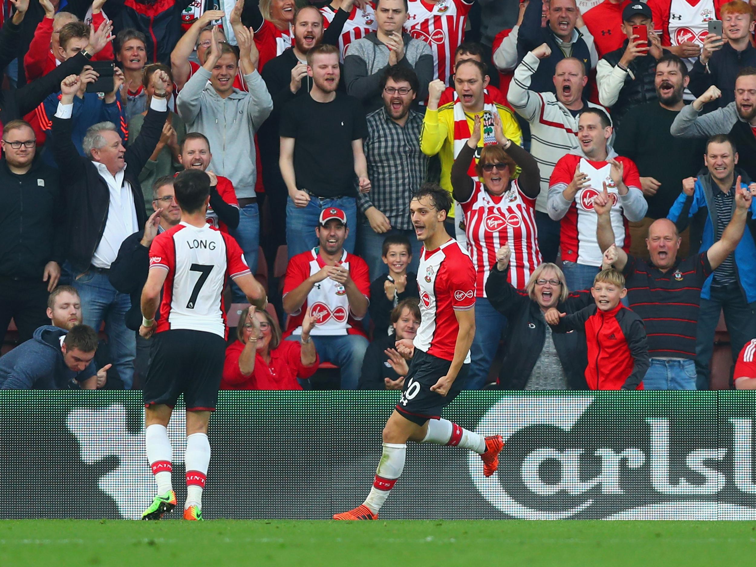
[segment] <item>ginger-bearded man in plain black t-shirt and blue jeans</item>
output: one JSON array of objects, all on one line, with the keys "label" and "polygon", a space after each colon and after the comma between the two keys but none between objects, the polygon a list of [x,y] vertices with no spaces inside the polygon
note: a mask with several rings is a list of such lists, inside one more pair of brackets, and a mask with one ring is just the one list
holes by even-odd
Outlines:
[{"label": "ginger-bearded man in plain black t-shirt and blue jeans", "polygon": [[[283,107],[280,117],[278,163],[289,192],[289,259],[317,246],[315,227],[323,209],[342,209],[347,225],[357,226],[355,177],[361,193],[370,191],[362,150],[364,110],[356,98],[336,92],[339,50],[319,45],[308,51],[307,74],[313,83],[309,95]],[[355,234],[349,234],[344,248],[354,253]]]}]

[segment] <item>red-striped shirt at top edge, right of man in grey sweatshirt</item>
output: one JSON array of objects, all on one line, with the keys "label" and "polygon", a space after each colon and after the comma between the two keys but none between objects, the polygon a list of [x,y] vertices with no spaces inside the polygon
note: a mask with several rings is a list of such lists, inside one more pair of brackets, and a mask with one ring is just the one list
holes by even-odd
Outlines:
[{"label": "red-striped shirt at top edge, right of man in grey sweatshirt", "polygon": [[462,43],[472,0],[409,0],[404,29],[414,39],[422,39],[433,52],[433,78],[445,85],[454,73],[454,51]]}]

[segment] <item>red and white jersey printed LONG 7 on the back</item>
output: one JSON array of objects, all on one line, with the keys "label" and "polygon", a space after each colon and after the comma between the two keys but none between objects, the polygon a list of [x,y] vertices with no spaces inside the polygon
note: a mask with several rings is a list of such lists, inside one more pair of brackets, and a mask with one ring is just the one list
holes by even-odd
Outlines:
[{"label": "red and white jersey printed LONG 7 on the back", "polygon": [[237,241],[205,225],[180,222],[155,237],[150,270],[167,270],[157,333],[201,330],[226,337],[223,288],[227,277],[249,274]]}]

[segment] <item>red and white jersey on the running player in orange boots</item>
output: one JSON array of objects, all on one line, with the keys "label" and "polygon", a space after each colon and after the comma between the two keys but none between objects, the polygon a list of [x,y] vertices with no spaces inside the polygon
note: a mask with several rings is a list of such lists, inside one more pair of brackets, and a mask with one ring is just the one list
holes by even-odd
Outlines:
[{"label": "red and white jersey on the running player in orange boots", "polygon": [[[475,307],[475,267],[457,240],[450,238],[435,250],[420,250],[417,290],[420,293],[420,328],[416,349],[445,361],[454,360],[460,325],[454,311]],[[465,362],[470,361],[470,353]]]}]

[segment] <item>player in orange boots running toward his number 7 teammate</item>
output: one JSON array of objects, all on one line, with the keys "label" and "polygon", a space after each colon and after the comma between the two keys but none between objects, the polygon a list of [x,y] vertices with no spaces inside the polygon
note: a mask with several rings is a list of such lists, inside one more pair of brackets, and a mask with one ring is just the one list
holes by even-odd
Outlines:
[{"label": "player in orange boots running toward his number 7 teammate", "polygon": [[482,457],[485,476],[499,466],[501,435],[484,438],[441,418],[444,407],[464,386],[475,336],[476,271],[444,228],[449,209],[451,197],[435,184],[423,185],[410,203],[415,234],[423,243],[417,271],[422,321],[412,346],[400,344],[403,341],[397,346],[409,347],[414,355],[404,392],[383,428],[383,455],[373,488],[364,503],[333,519],[378,518],[378,510],[404,469],[407,441],[475,451]]}]

